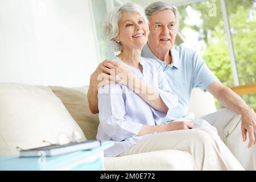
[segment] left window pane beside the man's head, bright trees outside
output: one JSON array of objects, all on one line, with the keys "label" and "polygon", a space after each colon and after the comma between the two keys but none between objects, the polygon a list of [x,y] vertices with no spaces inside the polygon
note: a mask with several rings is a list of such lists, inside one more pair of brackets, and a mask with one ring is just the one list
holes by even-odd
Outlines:
[{"label": "left window pane beside the man's head, bright trees outside", "polygon": [[180,13],[179,31],[185,37],[181,45],[200,52],[223,84],[234,85],[220,1],[202,1],[177,9]]}]

